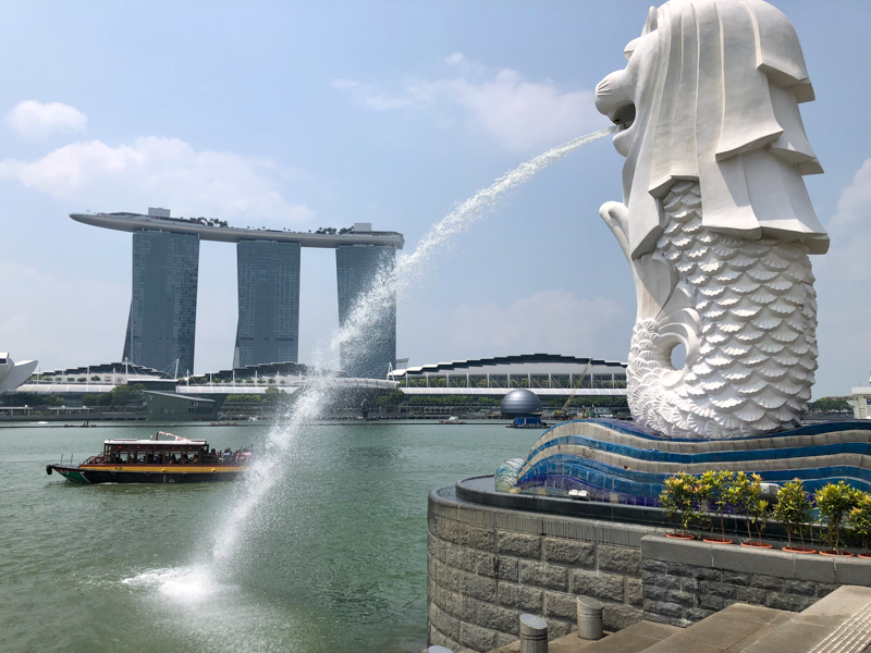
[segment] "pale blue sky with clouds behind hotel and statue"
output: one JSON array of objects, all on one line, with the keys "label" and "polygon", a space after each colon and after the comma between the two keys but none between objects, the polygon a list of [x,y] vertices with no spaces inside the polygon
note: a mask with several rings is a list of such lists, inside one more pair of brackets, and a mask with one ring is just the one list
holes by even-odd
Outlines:
[{"label": "pale blue sky with clouds behind hotel and statue", "polygon": [[[871,3],[775,1],[817,94],[825,170],[805,177],[832,237],[812,257],[814,396],[867,385]],[[625,65],[649,3],[0,2],[0,349],[44,370],[120,360],[131,237],[69,213],[316,230],[371,222],[405,254],[458,202],[608,126],[592,89]],[[621,199],[604,138],[543,170],[398,299],[410,365],[551,353],[626,360],[635,291],[598,215]],[[303,249],[302,362],[338,329],[335,259]],[[200,246],[196,372],[228,369],[232,245]]]}]

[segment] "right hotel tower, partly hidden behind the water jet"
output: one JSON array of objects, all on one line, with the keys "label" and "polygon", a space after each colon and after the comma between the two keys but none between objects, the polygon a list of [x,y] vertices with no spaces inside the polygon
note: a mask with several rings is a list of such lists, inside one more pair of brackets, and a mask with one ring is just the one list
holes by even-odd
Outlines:
[{"label": "right hotel tower, partly hidden behind the water jet", "polygon": [[[379,273],[393,269],[396,249],[390,245],[346,245],[335,249],[339,326],[344,328],[358,298],[375,287]],[[380,306],[365,333],[343,343],[340,366],[349,375],[384,379],[396,366],[396,295]]]}]

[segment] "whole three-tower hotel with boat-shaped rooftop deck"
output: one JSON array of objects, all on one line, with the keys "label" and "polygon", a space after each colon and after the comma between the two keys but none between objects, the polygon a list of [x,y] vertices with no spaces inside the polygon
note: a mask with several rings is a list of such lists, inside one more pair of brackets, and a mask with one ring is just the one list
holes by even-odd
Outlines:
[{"label": "whole three-tower hotel with boat-shaped rooftop deck", "polygon": [[[233,367],[298,362],[299,249],[335,249],[339,323],[380,270],[392,269],[405,244],[396,232],[368,223],[316,233],[238,229],[201,218],[171,218],[168,209],[140,213],[72,213],[77,222],[133,234],[133,292],[124,359],[158,370],[193,373],[199,242],[236,244],[238,322]],[[384,379],[396,365],[396,301],[365,337],[344,343],[340,365],[349,377]]]}]

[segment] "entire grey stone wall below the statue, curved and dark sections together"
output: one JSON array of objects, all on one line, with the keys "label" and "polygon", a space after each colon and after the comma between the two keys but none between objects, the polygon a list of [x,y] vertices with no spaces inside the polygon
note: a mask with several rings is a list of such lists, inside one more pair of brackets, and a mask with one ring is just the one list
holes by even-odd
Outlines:
[{"label": "entire grey stone wall below the statue, curved and dark sections together", "polygon": [[490,651],[518,637],[522,613],[550,637],[576,628],[575,596],[604,604],[619,630],[688,626],[732,603],[800,612],[841,584],[871,587],[871,560],[670,540],[664,529],[429,496],[429,641]]}]

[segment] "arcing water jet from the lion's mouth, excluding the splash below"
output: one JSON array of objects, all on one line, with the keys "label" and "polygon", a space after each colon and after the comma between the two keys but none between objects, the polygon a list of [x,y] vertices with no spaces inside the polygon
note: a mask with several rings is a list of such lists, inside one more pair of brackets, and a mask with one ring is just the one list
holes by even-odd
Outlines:
[{"label": "arcing water jet from the lion's mouth, excluding the splash below", "polygon": [[216,532],[212,557],[217,563],[229,563],[244,546],[248,525],[260,518],[260,510],[269,493],[275,489],[290,466],[287,453],[300,429],[312,420],[323,417],[335,396],[334,380],[324,372],[328,356],[335,359],[342,345],[353,344],[355,353],[366,346],[366,333],[378,321],[384,310],[393,306],[395,297],[413,287],[421,274],[431,271],[432,263],[450,243],[461,233],[484,219],[503,201],[511,190],[529,181],[536,173],[560,161],[573,151],[614,132],[614,127],[599,130],[554,147],[543,155],[522,163],[499,177],[487,188],[458,205],[451,213],[436,223],[418,246],[407,256],[397,258],[395,266],[382,269],[369,291],[356,301],[345,324],[331,338],[326,350],[315,360],[316,371],[307,378],[304,389],[298,390],[293,407],[270,430],[263,451],[252,465],[246,481],[240,485],[236,501],[223,515]]}]

